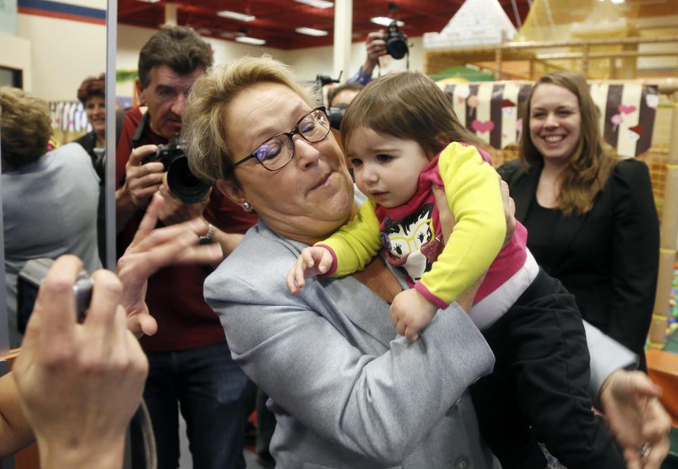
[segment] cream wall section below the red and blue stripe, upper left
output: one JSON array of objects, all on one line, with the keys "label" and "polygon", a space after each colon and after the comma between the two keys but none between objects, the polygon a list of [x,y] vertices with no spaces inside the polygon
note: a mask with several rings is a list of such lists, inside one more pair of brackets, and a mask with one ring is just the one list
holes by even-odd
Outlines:
[{"label": "cream wall section below the red and blue stripe, upper left", "polygon": [[[102,0],[80,3],[105,7]],[[19,13],[17,37],[31,45],[32,79],[24,81],[25,88],[45,100],[76,99],[83,79],[105,71],[105,25]]]}]

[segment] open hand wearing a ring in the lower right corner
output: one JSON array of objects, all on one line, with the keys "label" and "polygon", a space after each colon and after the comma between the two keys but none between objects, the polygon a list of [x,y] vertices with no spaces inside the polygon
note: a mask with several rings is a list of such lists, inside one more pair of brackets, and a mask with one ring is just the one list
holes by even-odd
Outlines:
[{"label": "open hand wearing a ring in the lower right corner", "polygon": [[600,391],[605,420],[629,469],[659,469],[669,452],[671,418],[660,395],[646,374],[624,370],[611,374]]}]

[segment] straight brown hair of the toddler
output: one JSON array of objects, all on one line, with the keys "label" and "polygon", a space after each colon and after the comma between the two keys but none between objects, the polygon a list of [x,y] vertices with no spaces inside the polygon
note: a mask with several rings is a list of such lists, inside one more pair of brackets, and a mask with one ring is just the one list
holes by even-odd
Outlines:
[{"label": "straight brown hair of the toddler", "polygon": [[421,72],[391,73],[369,83],[342,119],[344,148],[359,127],[413,140],[429,156],[450,142],[485,145],[457,119],[450,97]]}]

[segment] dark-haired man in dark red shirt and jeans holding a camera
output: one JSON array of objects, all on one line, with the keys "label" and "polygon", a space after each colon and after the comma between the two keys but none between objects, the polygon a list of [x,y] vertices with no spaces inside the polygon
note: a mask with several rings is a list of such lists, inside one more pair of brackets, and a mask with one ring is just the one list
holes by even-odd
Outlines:
[{"label": "dark-haired man in dark red shirt and jeans holding a camera", "polygon": [[[218,190],[196,203],[184,203],[169,189],[162,162],[142,164],[182,130],[186,95],[211,64],[209,45],[180,26],[163,27],[141,49],[136,87],[148,111],[143,114],[135,107],[126,112],[116,155],[119,255],[133,239],[155,193],[165,200],[162,225],[200,217],[208,230],[203,241],[218,242],[223,256],[256,220]],[[140,341],[150,366],[144,398],[160,469],[178,464],[178,404],[196,468],[244,467],[246,378],[231,359],[218,317],[204,302],[203,281],[209,273],[206,266],[172,266],[148,281],[148,309],[157,320],[157,333],[151,336],[146,331]],[[133,427],[133,446],[136,441]],[[133,456],[137,453],[133,447]]]}]

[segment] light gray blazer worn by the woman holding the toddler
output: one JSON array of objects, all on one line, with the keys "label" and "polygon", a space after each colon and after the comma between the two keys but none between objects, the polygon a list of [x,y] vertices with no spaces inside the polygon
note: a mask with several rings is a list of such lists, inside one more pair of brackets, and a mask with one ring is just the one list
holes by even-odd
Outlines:
[{"label": "light gray blazer worn by the woman holding the toddler", "polygon": [[260,220],[205,283],[234,360],[270,396],[277,467],[499,468],[466,391],[494,357],[463,310],[439,311],[408,343],[352,277],[290,294],[304,246]]}]

